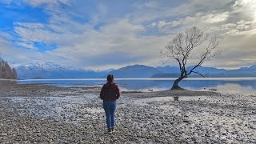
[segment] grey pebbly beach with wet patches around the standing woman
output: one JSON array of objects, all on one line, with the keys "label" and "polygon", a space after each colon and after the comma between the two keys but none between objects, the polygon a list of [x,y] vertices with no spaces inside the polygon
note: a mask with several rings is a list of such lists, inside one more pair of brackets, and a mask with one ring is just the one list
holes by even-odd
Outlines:
[{"label": "grey pebbly beach with wet patches around the standing woman", "polygon": [[1,143],[256,143],[256,95],[123,92],[106,134],[98,86],[0,81]]}]

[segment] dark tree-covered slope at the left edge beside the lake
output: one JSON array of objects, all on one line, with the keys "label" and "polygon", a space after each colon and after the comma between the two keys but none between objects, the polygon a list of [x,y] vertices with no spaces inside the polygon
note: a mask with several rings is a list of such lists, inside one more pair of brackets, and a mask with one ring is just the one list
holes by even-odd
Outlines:
[{"label": "dark tree-covered slope at the left edge beside the lake", "polygon": [[0,58],[0,78],[4,79],[17,79],[17,72],[14,68],[11,68],[8,62]]}]

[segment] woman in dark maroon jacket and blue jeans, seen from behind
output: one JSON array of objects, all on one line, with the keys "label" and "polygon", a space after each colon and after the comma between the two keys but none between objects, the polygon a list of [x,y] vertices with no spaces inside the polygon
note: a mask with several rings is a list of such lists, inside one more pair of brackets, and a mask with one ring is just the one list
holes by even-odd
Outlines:
[{"label": "woman in dark maroon jacket and blue jeans, seen from behind", "polygon": [[120,91],[118,86],[113,82],[114,76],[109,74],[107,76],[107,82],[102,86],[100,97],[103,100],[103,108],[106,113],[106,126],[108,133],[114,133],[114,111],[116,109],[116,100],[120,97]]}]

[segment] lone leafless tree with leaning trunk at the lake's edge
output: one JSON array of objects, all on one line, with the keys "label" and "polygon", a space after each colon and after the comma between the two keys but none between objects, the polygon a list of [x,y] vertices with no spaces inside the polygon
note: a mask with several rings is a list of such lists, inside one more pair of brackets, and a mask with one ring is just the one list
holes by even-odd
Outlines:
[{"label": "lone leafless tree with leaning trunk at the lake's edge", "polygon": [[[188,78],[192,73],[199,74],[194,71],[198,66],[201,66],[206,59],[210,59],[218,55],[216,48],[219,43],[219,38],[216,36],[210,37],[209,34],[204,34],[202,30],[197,27],[191,27],[185,31],[185,33],[180,33],[175,36],[175,38],[166,45],[166,49],[161,51],[164,58],[167,61],[170,59],[175,59],[178,62],[180,69],[180,76],[174,81],[171,90],[182,89],[178,86],[178,82],[182,79]],[[187,69],[188,59],[191,58],[191,52],[196,48],[202,50],[202,54],[199,56],[198,63],[190,70]],[[203,75],[200,74],[202,77]]]}]

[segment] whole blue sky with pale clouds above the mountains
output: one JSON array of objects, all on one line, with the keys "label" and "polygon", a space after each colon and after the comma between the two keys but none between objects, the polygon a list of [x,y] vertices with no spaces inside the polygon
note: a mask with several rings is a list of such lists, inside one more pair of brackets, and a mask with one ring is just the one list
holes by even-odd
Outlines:
[{"label": "whole blue sky with pale clouds above the mountains", "polygon": [[160,51],[192,26],[221,39],[221,55],[202,66],[256,65],[254,0],[0,0],[0,58],[86,70],[178,66]]}]

